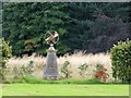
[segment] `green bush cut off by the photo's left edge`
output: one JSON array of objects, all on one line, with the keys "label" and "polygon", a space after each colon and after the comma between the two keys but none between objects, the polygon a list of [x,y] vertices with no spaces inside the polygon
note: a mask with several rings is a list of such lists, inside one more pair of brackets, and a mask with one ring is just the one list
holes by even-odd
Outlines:
[{"label": "green bush cut off by the photo's left edge", "polygon": [[0,48],[2,48],[0,50],[0,57],[2,57],[2,59],[0,60],[0,77],[2,77],[2,81],[5,81],[5,73],[7,73],[7,68],[5,68],[5,63],[8,61],[9,58],[11,58],[11,47],[9,46],[9,42],[7,42],[3,38],[0,39]]}]

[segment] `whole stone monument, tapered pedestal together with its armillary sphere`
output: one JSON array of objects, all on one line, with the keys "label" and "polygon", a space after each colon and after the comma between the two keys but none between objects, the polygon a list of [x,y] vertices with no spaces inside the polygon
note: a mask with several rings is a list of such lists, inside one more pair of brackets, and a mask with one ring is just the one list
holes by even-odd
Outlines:
[{"label": "whole stone monument, tapered pedestal together with its armillary sphere", "polygon": [[46,57],[46,66],[44,71],[44,78],[45,79],[58,79],[59,72],[57,66],[57,50],[53,48],[53,45],[57,44],[59,40],[59,34],[55,30],[47,32],[45,34],[46,42],[50,45],[49,49],[47,50]]}]

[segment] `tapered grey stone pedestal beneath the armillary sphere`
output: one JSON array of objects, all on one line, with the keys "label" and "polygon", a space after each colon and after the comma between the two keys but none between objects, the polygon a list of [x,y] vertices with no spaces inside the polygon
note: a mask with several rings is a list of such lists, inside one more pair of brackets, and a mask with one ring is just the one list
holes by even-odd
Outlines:
[{"label": "tapered grey stone pedestal beneath the armillary sphere", "polygon": [[52,45],[47,50],[46,66],[44,71],[45,79],[58,79],[59,78],[56,52],[57,50],[55,50]]}]

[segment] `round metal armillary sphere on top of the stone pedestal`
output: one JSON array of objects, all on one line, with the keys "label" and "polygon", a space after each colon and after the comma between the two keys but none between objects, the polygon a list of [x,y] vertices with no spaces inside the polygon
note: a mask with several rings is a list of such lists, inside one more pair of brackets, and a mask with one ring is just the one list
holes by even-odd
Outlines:
[{"label": "round metal armillary sphere on top of the stone pedestal", "polygon": [[55,45],[59,40],[59,34],[56,30],[48,30],[45,34],[45,40],[48,45]]}]

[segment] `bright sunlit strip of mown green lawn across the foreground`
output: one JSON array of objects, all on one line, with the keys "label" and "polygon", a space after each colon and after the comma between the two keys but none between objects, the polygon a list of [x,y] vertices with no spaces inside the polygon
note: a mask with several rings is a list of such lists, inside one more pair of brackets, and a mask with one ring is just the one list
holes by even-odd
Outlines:
[{"label": "bright sunlit strip of mown green lawn across the foreground", "polygon": [[129,96],[129,85],[5,84],[3,96]]}]

